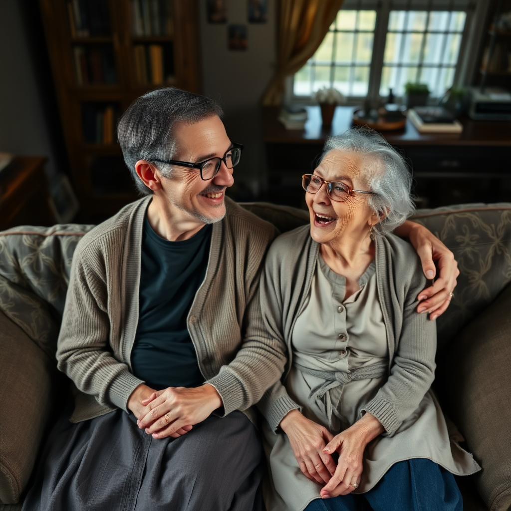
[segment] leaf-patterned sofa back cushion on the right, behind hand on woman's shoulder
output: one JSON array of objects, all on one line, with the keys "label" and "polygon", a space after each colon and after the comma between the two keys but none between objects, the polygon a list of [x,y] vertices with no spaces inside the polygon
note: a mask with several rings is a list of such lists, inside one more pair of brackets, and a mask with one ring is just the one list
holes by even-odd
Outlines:
[{"label": "leaf-patterned sofa back cushion on the right, behind hand on woman's shoulder", "polygon": [[417,210],[412,220],[449,247],[460,275],[437,320],[438,354],[511,281],[511,204],[461,204]]}]

